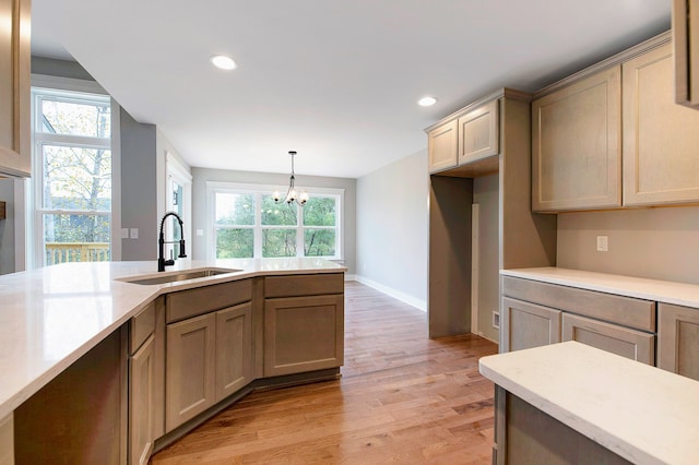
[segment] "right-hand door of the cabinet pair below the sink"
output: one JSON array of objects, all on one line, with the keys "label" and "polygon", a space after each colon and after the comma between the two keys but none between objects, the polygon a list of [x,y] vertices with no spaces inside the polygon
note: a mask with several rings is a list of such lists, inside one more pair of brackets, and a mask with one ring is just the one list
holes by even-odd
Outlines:
[{"label": "right-hand door of the cabinet pair below the sink", "polygon": [[216,312],[216,402],[252,381],[252,303]]}]

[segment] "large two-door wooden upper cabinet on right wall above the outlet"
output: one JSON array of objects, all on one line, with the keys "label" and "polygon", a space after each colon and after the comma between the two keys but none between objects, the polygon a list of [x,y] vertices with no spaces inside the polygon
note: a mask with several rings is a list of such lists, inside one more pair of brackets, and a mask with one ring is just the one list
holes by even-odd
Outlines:
[{"label": "large two-door wooden upper cabinet on right wall above the outlet", "polygon": [[532,102],[532,208],[696,204],[697,128],[675,104],[670,33],[583,70]]}]

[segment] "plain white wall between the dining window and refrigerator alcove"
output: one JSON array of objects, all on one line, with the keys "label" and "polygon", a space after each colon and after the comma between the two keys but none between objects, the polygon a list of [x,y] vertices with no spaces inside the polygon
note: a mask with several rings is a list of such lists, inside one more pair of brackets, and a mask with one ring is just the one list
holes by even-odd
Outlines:
[{"label": "plain white wall between the dining window and refrigerator alcove", "polygon": [[357,180],[357,279],[427,308],[427,150]]}]

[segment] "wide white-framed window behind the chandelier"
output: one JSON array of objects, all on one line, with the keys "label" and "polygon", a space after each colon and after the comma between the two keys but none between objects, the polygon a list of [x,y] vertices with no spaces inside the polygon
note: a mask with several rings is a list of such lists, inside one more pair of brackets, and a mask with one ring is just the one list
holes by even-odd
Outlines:
[{"label": "wide white-framed window behind the chandelier", "polygon": [[340,259],[343,191],[316,189],[301,208],[274,203],[272,187],[210,182],[216,259]]}]

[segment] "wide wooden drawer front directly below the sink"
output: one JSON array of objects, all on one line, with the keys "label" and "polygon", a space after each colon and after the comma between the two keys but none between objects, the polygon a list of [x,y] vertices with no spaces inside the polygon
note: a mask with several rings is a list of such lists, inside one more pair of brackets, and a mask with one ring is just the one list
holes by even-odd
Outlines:
[{"label": "wide wooden drawer front directly below the sink", "polygon": [[251,279],[234,281],[167,295],[167,323],[233,307],[252,299]]}]

